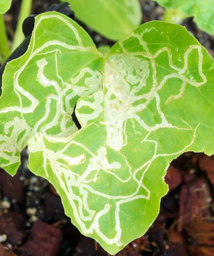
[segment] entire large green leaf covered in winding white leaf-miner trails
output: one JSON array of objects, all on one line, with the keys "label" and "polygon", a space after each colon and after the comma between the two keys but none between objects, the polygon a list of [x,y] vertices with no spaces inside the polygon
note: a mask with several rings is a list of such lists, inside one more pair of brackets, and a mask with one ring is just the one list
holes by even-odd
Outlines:
[{"label": "entire large green leaf covered in winding white leaf-miner trails", "polygon": [[103,55],[75,21],[38,15],[3,74],[0,166],[14,175],[28,145],[72,223],[117,253],[157,217],[169,163],[214,153],[213,88],[214,60],[182,26],[145,23]]}]

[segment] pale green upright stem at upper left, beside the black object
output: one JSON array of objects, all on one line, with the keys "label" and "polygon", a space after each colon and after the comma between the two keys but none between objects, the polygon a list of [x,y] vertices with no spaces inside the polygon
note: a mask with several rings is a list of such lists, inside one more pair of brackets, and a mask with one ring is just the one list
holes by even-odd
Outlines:
[{"label": "pale green upright stem at upper left, beside the black object", "polygon": [[16,27],[16,32],[12,45],[12,52],[21,44],[24,40],[24,34],[22,32],[22,23],[31,13],[32,0],[22,0],[19,19]]}]

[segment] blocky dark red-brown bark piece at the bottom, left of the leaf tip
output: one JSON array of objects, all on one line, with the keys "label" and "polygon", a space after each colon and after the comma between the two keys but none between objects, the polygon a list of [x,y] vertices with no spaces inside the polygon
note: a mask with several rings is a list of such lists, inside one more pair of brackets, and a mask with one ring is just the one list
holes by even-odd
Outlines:
[{"label": "blocky dark red-brown bark piece at the bottom, left of the leaf tip", "polygon": [[28,241],[23,245],[21,256],[56,256],[62,232],[42,221],[34,223]]}]

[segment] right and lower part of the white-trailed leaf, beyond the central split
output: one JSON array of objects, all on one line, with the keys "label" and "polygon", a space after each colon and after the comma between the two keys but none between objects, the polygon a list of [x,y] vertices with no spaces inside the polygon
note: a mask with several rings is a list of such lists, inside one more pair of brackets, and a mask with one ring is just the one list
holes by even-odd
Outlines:
[{"label": "right and lower part of the white-trailed leaf, beyond the central split", "polygon": [[103,79],[78,100],[80,131],[29,140],[29,169],[55,186],[81,233],[114,254],[157,217],[169,163],[214,153],[214,60],[184,27],[152,21],[113,46]]}]

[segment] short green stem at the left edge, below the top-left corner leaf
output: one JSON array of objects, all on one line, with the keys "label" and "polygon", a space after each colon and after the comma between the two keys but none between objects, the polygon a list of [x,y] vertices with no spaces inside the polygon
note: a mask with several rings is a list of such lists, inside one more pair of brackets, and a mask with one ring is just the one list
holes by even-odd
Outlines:
[{"label": "short green stem at the left edge, below the top-left corner leaf", "polygon": [[7,40],[7,33],[4,24],[4,17],[0,14],[0,61],[6,61],[10,55],[10,49]]}]

